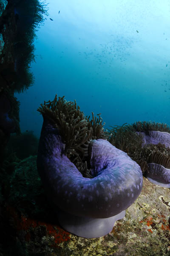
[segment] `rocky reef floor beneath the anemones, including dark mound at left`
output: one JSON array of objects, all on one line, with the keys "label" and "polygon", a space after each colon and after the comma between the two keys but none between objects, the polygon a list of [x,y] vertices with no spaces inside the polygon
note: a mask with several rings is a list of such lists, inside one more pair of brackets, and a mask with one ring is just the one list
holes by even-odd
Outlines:
[{"label": "rocky reef floor beneath the anemones, including dark mound at left", "polygon": [[[16,163],[8,185],[2,185],[2,255],[11,256],[11,251],[18,256],[170,255],[170,188],[143,179],[140,196],[111,233],[85,239],[57,223],[37,173],[36,156]],[[3,251],[4,245],[12,250]]]}]

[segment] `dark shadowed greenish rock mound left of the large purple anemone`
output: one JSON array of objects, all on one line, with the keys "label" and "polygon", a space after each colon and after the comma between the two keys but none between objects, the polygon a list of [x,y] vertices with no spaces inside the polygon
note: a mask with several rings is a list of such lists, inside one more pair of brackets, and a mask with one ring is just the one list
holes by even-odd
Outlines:
[{"label": "dark shadowed greenish rock mound left of the large purple anemone", "polygon": [[30,156],[16,165],[10,180],[8,202],[27,216],[40,217],[40,214],[45,213],[47,203],[36,161],[37,156]]}]

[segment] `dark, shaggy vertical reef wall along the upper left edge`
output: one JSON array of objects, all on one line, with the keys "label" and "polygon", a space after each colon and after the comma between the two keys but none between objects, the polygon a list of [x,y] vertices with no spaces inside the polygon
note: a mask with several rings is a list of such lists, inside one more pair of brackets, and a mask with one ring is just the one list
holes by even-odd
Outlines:
[{"label": "dark, shaggy vertical reef wall along the upper left edge", "polygon": [[14,93],[34,83],[34,37],[45,7],[38,0],[0,0],[0,162],[10,134],[20,134],[20,102]]}]

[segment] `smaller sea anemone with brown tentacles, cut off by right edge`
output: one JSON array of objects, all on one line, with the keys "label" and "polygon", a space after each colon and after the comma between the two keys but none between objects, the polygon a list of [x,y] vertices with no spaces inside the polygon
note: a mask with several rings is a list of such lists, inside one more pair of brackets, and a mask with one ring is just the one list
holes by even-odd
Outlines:
[{"label": "smaller sea anemone with brown tentacles, cut off by right edge", "polygon": [[170,127],[164,123],[135,122],[112,127],[109,142],[136,161],[147,179],[170,187]]}]

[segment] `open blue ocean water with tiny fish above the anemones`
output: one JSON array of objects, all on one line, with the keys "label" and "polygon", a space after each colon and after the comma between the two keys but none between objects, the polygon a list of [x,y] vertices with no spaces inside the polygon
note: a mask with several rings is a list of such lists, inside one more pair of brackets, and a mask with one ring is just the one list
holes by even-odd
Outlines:
[{"label": "open blue ocean water with tiny fish above the anemones", "polygon": [[170,125],[169,0],[49,0],[48,8],[35,40],[34,86],[16,94],[21,131],[40,136],[37,108],[55,94],[75,99],[85,115],[101,113],[105,128]]}]

